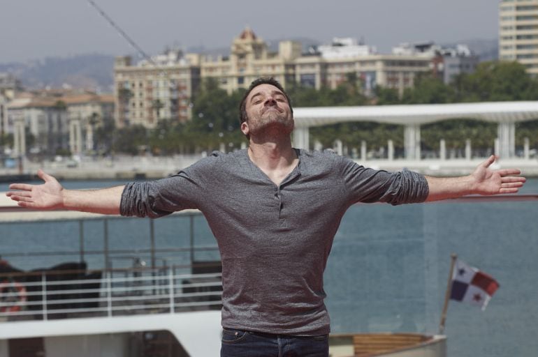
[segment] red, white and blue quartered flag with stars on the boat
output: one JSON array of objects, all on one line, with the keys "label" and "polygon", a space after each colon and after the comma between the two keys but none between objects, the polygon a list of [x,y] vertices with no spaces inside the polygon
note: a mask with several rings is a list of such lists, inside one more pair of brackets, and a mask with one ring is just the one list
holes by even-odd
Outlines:
[{"label": "red, white and blue quartered flag with stars on the boat", "polygon": [[499,283],[490,275],[456,260],[452,271],[451,300],[471,303],[486,309]]}]

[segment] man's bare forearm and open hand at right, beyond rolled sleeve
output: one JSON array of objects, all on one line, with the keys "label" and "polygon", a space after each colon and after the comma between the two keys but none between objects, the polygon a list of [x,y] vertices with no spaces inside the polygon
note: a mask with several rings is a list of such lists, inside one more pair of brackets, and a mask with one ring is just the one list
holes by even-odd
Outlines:
[{"label": "man's bare forearm and open hand at right, beyond rolled sleeve", "polygon": [[525,177],[518,176],[518,169],[490,169],[495,162],[491,155],[469,176],[439,178],[426,176],[430,193],[426,201],[456,198],[464,195],[500,195],[516,193],[525,183]]}]

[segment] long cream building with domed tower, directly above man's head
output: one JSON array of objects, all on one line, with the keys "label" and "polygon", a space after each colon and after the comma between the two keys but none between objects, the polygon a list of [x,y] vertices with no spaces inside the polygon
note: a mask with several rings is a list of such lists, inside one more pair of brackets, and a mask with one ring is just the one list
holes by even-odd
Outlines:
[{"label": "long cream building with domed tower, directly above man's head", "polygon": [[247,27],[233,40],[230,56],[203,58],[201,77],[218,79],[221,88],[231,93],[246,88],[260,76],[275,77],[284,87],[298,83],[334,89],[354,75],[366,95],[371,95],[377,85],[402,93],[413,86],[418,73],[430,72],[431,57],[378,54],[375,47],[357,43],[354,38],[334,38],[330,45],[306,53],[300,43],[282,41],[278,52],[271,53],[267,44]]}]

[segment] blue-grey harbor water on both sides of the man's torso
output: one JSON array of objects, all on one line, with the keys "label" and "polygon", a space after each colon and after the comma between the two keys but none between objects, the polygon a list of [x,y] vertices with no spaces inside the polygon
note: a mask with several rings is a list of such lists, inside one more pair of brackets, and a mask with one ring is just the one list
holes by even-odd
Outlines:
[{"label": "blue-grey harbor water on both sides of the man's torso", "polygon": [[[67,188],[117,184],[64,182]],[[7,189],[7,185],[0,185],[0,192]],[[530,179],[521,193],[538,194],[538,179]],[[450,255],[456,253],[467,264],[492,275],[500,289],[485,311],[451,301],[444,331],[448,355],[537,356],[537,212],[536,201],[352,206],[337,231],[324,275],[332,332],[437,333]],[[27,271],[81,259],[78,251],[82,244],[82,259],[90,269],[106,264],[112,268],[132,266],[136,259],[152,259],[148,236],[153,225],[153,244],[159,250],[154,257],[157,264],[218,259],[215,239],[202,215],[174,215],[153,221],[111,218],[106,223],[106,238],[103,222],[3,222],[0,255]],[[207,249],[192,257],[188,249],[191,239],[197,247]],[[108,263],[103,255],[92,255],[106,245],[115,252]],[[138,249],[140,254],[122,254],[126,248]],[[73,253],[61,257],[46,254],[52,251]]]}]

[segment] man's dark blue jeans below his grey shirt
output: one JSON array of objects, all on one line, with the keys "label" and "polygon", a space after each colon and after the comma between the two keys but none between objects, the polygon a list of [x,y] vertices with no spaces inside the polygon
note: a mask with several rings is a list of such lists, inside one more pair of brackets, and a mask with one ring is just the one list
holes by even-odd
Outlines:
[{"label": "man's dark blue jeans below his grey shirt", "polygon": [[221,357],[328,357],[328,335],[272,335],[224,328]]}]

